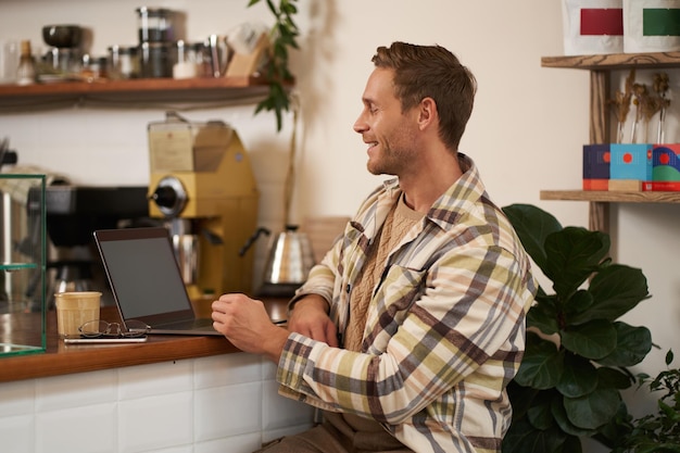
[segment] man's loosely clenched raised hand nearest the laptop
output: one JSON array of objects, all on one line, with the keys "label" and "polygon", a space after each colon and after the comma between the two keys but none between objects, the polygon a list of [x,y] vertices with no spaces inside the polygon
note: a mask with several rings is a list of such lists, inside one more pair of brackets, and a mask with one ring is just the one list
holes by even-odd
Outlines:
[{"label": "man's loosely clenched raised hand nearest the laptop", "polygon": [[213,326],[243,352],[278,363],[288,331],[275,326],[264,304],[244,294],[224,294],[213,302]]}]

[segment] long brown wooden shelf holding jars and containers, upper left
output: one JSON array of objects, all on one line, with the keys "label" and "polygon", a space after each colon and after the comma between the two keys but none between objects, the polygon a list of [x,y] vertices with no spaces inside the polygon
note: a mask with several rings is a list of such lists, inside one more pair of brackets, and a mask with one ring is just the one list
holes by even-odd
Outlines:
[{"label": "long brown wooden shelf holding jars and containers, upper left", "polygon": [[0,85],[0,108],[77,103],[87,100],[115,102],[207,102],[264,97],[268,85],[260,77],[146,78],[130,80],[59,81],[28,86]]}]

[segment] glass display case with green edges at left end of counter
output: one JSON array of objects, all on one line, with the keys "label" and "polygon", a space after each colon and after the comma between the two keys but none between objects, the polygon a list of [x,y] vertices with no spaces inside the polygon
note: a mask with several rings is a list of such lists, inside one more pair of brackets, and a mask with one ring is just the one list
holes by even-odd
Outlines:
[{"label": "glass display case with green edges at left end of counter", "polygon": [[0,357],[46,350],[45,179],[0,174]]}]

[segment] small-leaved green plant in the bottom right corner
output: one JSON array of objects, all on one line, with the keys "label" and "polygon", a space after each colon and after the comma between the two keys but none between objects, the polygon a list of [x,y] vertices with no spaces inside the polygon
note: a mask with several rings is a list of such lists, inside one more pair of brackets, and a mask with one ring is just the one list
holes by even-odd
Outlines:
[{"label": "small-leaved green plant in the bottom right corner", "polygon": [[[666,353],[666,366],[673,360]],[[680,369],[667,368],[654,379],[639,375],[639,386],[663,392],[657,400],[658,412],[627,423],[629,433],[614,453],[680,453]]]}]

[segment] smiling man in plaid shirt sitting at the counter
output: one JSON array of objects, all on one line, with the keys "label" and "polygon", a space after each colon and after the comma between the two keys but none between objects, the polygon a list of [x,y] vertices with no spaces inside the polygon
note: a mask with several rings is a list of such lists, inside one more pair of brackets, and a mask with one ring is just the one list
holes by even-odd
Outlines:
[{"label": "smiling man in plaid shirt sitting at the counter", "polygon": [[278,364],[282,394],[325,411],[265,452],[500,452],[536,286],[457,152],[476,81],[439,46],[394,42],[373,62],[354,130],[368,171],[396,178],[312,269],[288,330],[243,294],[213,303],[214,325]]}]

